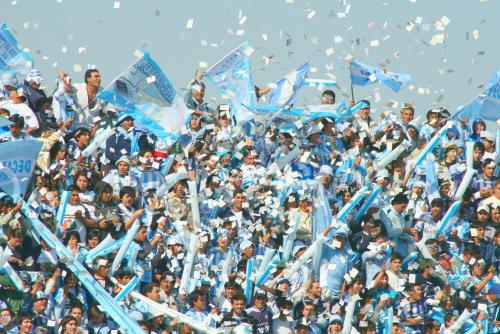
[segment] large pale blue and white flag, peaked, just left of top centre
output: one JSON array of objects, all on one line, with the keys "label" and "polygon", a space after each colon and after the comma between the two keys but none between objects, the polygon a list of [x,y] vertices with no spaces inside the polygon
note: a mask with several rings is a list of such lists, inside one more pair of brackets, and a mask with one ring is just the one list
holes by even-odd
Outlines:
[{"label": "large pale blue and white flag, peaked, just left of top centre", "polygon": [[242,43],[205,73],[217,90],[229,98],[238,124],[244,124],[253,118],[253,113],[245,107],[253,106],[255,101],[248,49],[248,42]]}]

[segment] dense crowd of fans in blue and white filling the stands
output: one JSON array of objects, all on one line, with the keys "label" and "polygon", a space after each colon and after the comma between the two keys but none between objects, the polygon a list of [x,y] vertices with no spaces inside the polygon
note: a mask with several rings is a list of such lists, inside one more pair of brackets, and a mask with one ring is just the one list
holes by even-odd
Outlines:
[{"label": "dense crowd of fans in blue and white filling the stands", "polygon": [[249,132],[205,102],[198,74],[166,144],[96,98],[96,69],[42,83],[31,70],[0,85],[0,146],[42,142],[24,201],[0,193],[2,258],[22,281],[1,272],[0,333],[125,333],[74,261],[145,333],[499,332],[498,150],[482,119],[416,121],[412,104],[375,116],[363,100],[347,120]]}]

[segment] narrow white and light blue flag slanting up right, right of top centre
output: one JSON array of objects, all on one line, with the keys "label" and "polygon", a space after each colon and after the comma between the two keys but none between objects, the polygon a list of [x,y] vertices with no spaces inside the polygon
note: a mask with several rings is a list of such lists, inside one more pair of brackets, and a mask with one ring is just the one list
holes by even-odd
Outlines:
[{"label": "narrow white and light blue flag slanting up right, right of top centre", "polygon": [[283,79],[276,83],[276,88],[271,92],[270,106],[283,108],[294,103],[297,92],[304,85],[304,80],[309,73],[310,63],[304,63],[299,68],[288,73]]}]

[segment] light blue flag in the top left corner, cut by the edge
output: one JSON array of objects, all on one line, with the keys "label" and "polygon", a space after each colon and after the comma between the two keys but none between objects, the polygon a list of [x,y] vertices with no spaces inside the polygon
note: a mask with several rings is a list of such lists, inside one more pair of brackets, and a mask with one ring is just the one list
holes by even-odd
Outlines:
[{"label": "light blue flag in the top left corner, cut by the edge", "polygon": [[26,75],[33,67],[31,56],[19,49],[17,40],[11,34],[7,24],[0,27],[0,70],[13,70]]}]

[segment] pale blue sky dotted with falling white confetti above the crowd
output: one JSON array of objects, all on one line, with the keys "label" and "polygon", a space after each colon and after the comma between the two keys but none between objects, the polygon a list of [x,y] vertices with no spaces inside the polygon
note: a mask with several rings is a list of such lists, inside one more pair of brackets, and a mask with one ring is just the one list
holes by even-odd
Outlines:
[{"label": "pale blue sky dotted with falling white confetti above the crowd", "polygon": [[[350,54],[371,65],[385,63],[387,69],[413,77],[413,90],[405,88],[395,94],[375,84],[355,87],[356,98],[373,96],[376,91],[381,98],[374,105],[377,111],[389,110],[385,106],[389,100],[416,101],[417,113],[421,114],[436,99],[441,99],[437,105],[454,111],[479,94],[478,87],[500,68],[497,19],[500,1],[497,0],[122,0],[119,3],[120,8],[114,9],[114,0],[2,0],[0,20],[7,22],[16,38],[31,50],[49,90],[56,69],[64,68],[79,82],[88,64],[95,64],[101,71],[103,84],[108,84],[135,59],[134,51],[141,47],[151,53],[176,87],[181,88],[193,77],[200,62],[210,66],[248,40],[256,49],[251,64],[257,85],[275,82],[307,60],[317,68],[310,77],[328,79],[330,73],[349,93],[344,59]],[[349,12],[339,17],[347,6]],[[189,19],[194,20],[192,29],[186,28]],[[447,23],[443,31],[436,30],[437,20]],[[410,22],[414,26],[407,31]],[[243,35],[236,35],[238,30],[244,30]],[[474,36],[475,30],[478,35]],[[444,33],[444,44],[432,46],[433,35],[440,33]],[[262,34],[267,34],[267,41]],[[202,45],[202,40],[207,46]],[[291,42],[288,46],[287,40]],[[379,46],[373,47],[376,40]],[[66,53],[62,52],[63,47]],[[86,48],[86,52],[79,54],[80,47]],[[328,56],[330,47],[334,53]],[[44,56],[48,59],[43,59]],[[263,56],[272,56],[267,66]],[[57,66],[53,67],[55,62]],[[74,72],[76,64],[82,67],[82,72]],[[419,94],[419,88],[430,94]],[[298,105],[317,103],[319,94],[314,88],[303,88]],[[220,100],[211,88],[207,95]]]}]

